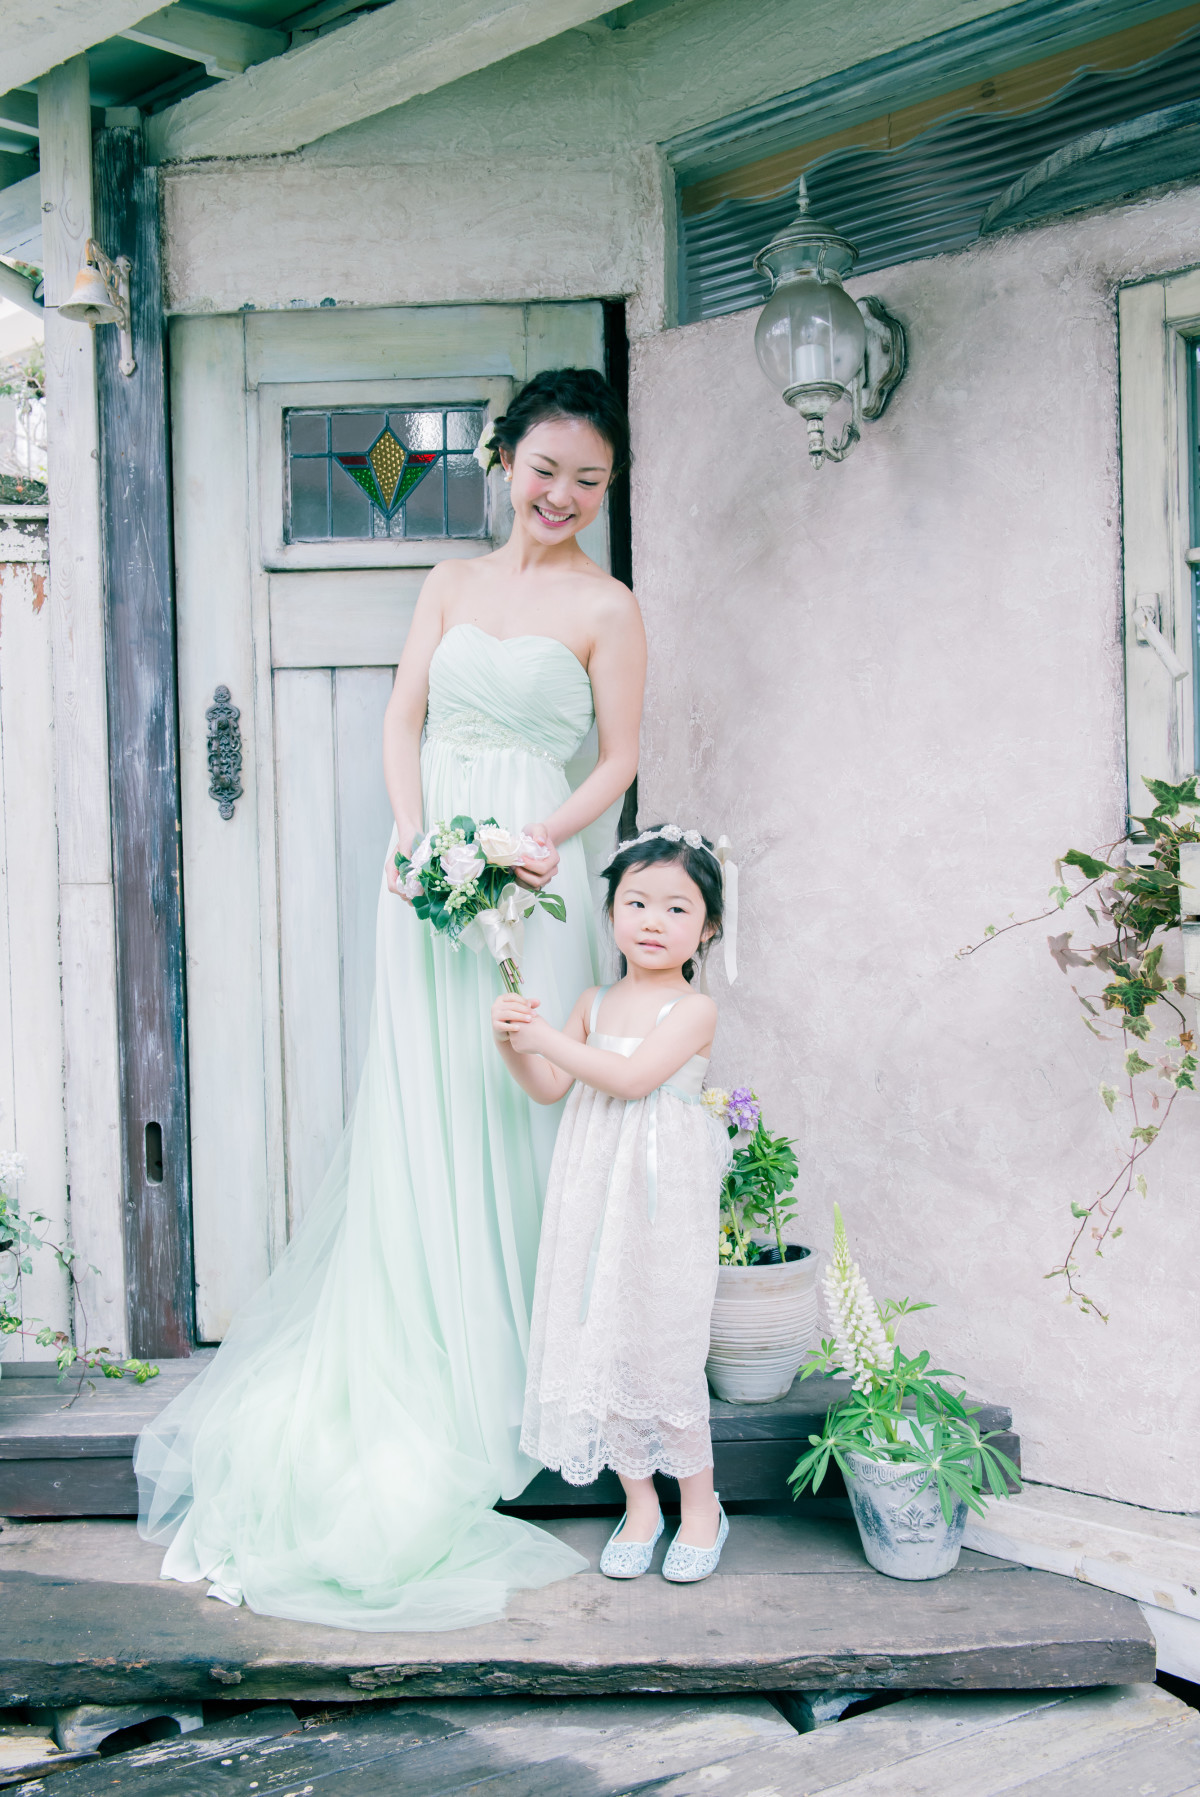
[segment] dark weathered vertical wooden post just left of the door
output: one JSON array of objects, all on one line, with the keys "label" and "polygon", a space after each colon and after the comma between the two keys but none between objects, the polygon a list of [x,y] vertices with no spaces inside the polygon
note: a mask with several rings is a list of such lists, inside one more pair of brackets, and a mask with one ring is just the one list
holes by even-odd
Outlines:
[{"label": "dark weathered vertical wooden post just left of the door", "polygon": [[117,332],[97,332],[129,1348],[187,1355],[192,1204],[171,456],[158,171],[146,167],[140,131],[97,138],[95,230],[108,255],[133,262],[137,359],[122,374]]}]

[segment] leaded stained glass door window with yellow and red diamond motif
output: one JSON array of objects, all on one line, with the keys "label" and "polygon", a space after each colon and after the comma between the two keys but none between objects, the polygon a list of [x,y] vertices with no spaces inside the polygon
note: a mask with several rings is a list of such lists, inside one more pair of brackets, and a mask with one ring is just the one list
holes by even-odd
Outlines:
[{"label": "leaded stained glass door window with yellow and red diamond motif", "polygon": [[286,415],[287,541],[481,537],[487,482],[474,460],[483,406]]}]

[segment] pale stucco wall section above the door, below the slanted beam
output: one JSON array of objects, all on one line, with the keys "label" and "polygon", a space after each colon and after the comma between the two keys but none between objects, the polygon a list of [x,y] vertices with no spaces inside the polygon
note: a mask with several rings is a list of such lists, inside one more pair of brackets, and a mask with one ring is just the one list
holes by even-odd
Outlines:
[{"label": "pale stucco wall section above the door, below the slanted beam", "polygon": [[1004,5],[631,11],[622,29],[564,32],[300,155],[169,167],[171,309],[627,295],[643,336],[670,316],[674,275],[657,144]]}]

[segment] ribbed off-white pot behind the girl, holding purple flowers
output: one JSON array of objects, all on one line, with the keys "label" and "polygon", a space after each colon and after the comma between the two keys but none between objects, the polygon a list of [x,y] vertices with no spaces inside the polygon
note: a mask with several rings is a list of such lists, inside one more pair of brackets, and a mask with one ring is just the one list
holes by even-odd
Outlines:
[{"label": "ribbed off-white pot behind the girl, holding purple flowers", "polygon": [[717,1274],[708,1382],[733,1403],[785,1398],[817,1333],[817,1256]]}]

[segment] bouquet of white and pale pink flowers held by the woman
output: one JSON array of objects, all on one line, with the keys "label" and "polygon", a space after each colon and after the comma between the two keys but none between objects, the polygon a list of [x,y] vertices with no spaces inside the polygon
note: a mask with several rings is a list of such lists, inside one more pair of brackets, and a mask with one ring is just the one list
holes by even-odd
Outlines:
[{"label": "bouquet of white and pale pink flowers held by the woman", "polygon": [[557,893],[530,891],[510,877],[519,861],[537,861],[543,845],[512,836],[494,818],[451,818],[435,823],[413,846],[395,855],[401,891],[419,918],[428,920],[451,947],[465,942],[476,954],[487,949],[510,992],[521,990],[525,920],[537,906],[560,924],[566,904]]}]

